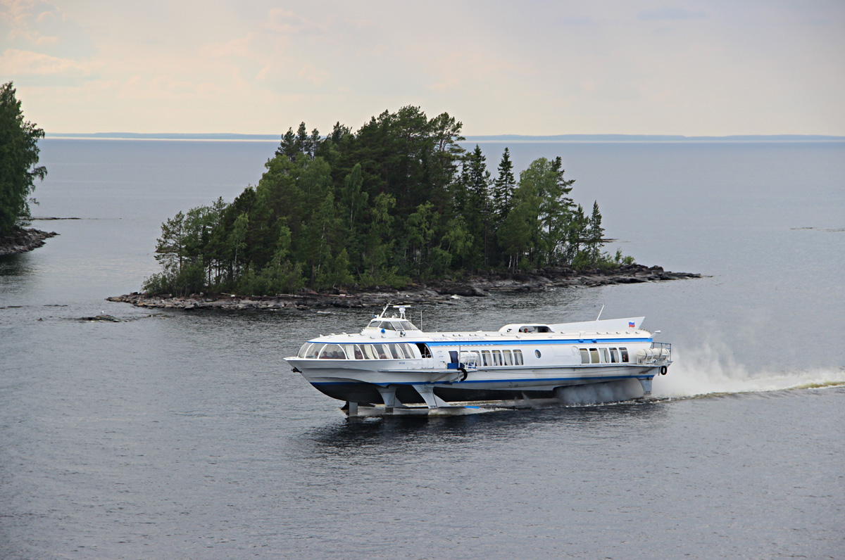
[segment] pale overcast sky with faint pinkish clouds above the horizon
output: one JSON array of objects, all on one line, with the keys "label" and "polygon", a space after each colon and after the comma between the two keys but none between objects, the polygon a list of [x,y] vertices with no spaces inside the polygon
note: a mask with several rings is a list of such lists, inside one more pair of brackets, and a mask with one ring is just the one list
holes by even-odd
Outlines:
[{"label": "pale overcast sky with faint pinkish clouds above the horizon", "polygon": [[0,0],[0,82],[47,133],[845,135],[845,1]]}]

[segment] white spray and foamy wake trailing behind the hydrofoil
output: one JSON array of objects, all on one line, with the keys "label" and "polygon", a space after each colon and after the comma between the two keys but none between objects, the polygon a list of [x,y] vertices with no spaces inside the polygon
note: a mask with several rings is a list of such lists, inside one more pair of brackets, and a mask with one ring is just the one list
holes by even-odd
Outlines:
[{"label": "white spray and foamy wake trailing behind the hydrofoil", "polygon": [[726,348],[711,345],[673,351],[668,375],[654,378],[651,396],[684,399],[717,394],[766,393],[789,389],[820,389],[845,385],[845,368],[793,372],[751,372]]}]

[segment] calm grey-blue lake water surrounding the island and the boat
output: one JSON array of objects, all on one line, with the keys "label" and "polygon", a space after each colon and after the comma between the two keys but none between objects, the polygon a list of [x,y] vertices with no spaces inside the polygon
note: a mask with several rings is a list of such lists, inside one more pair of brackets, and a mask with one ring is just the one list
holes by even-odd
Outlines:
[{"label": "calm grey-blue lake water surrounding the island and the boat", "polygon": [[33,214],[79,220],[0,259],[0,558],[845,557],[845,144],[509,145],[563,157],[609,251],[706,278],[412,314],[646,315],[657,400],[348,421],[281,358],[368,313],[105,301],[274,143],[43,140]]}]

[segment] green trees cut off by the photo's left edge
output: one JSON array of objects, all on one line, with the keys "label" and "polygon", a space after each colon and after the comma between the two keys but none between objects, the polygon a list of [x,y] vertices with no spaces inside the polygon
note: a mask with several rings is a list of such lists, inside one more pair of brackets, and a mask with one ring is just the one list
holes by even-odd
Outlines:
[{"label": "green trees cut off by the photo's left edge", "polygon": [[15,94],[12,82],[0,85],[0,237],[30,216],[35,179],[47,173],[36,165],[44,131],[24,120]]}]

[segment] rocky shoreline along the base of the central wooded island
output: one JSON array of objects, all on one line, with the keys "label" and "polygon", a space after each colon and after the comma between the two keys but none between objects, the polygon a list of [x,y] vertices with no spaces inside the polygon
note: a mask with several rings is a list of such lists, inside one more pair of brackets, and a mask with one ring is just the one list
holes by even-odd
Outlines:
[{"label": "rocky shoreline along the base of the central wooded island", "polygon": [[438,281],[428,285],[409,285],[404,290],[390,288],[368,292],[301,290],[277,296],[234,296],[226,294],[144,294],[133,292],[107,297],[109,302],[131,303],[138,307],[164,309],[311,309],[327,307],[383,307],[394,303],[450,303],[465,297],[485,297],[492,292],[544,291],[554,287],[595,287],[611,284],[639,284],[663,280],[701,278],[700,274],[667,272],[659,266],[628,264],[619,269],[543,269],[531,274],[490,273],[459,281]]}]

